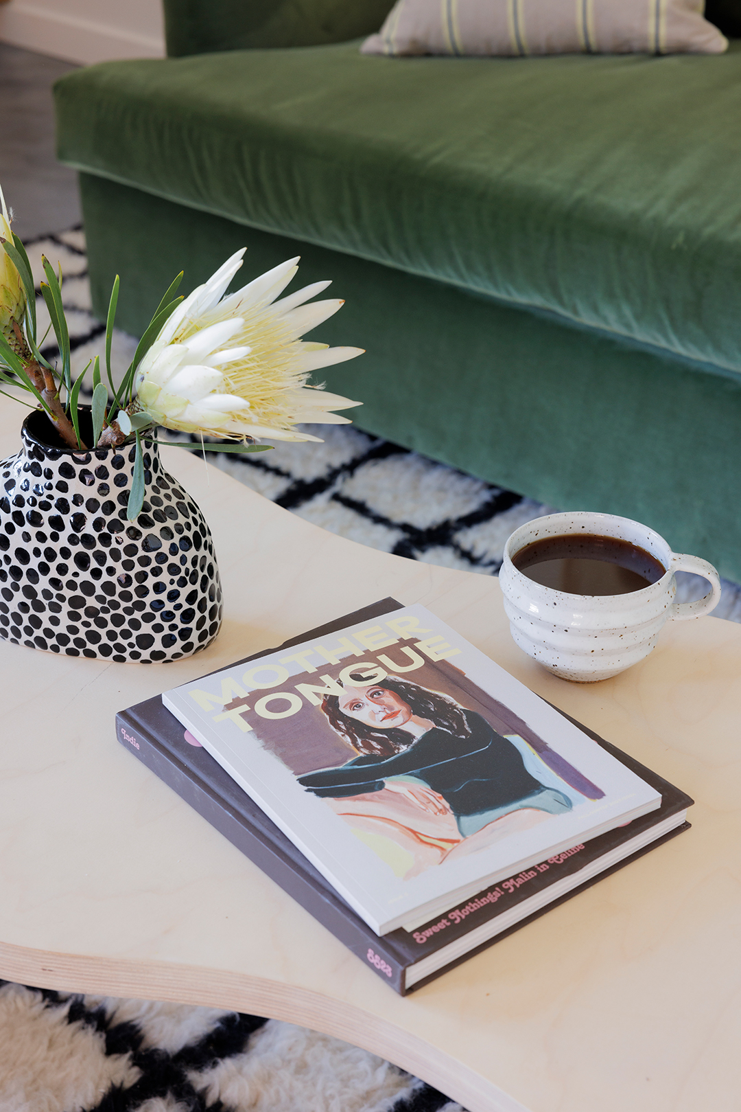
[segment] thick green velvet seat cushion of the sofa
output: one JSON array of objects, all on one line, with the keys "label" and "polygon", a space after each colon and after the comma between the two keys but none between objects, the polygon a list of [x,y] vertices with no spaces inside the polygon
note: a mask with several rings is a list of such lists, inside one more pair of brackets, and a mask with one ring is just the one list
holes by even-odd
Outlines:
[{"label": "thick green velvet seat cushion of the sofa", "polygon": [[228,51],[77,70],[56,95],[71,166],[741,370],[741,43]]}]

